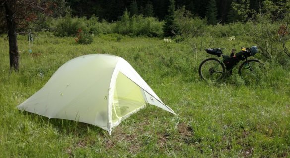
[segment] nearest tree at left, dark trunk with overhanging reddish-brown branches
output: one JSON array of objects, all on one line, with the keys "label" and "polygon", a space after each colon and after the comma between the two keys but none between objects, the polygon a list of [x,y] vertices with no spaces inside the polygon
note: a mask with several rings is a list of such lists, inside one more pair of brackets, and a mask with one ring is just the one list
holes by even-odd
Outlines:
[{"label": "nearest tree at left, dark trunk with overhanging reddish-brown branches", "polygon": [[[17,30],[24,27],[28,22],[38,19],[37,13],[53,15],[58,4],[64,3],[60,0],[0,0],[0,17],[6,17],[10,72],[19,69],[19,52],[17,44]],[[57,9],[56,9],[57,10]]]}]

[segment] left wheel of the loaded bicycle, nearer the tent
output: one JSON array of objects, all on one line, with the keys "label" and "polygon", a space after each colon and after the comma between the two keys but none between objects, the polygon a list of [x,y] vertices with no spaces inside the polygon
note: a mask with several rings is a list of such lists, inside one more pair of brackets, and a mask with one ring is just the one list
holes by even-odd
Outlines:
[{"label": "left wheel of the loaded bicycle, nearer the tent", "polygon": [[217,81],[223,78],[225,72],[224,63],[216,58],[202,61],[198,68],[200,78],[208,81]]}]

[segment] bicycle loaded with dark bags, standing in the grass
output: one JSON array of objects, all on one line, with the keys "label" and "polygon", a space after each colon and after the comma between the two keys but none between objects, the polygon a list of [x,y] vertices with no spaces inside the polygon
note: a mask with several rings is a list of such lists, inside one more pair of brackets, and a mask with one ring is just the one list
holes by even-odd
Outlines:
[{"label": "bicycle loaded with dark bags, standing in the grass", "polygon": [[232,51],[231,56],[224,55],[222,50],[225,48],[209,48],[205,51],[211,55],[223,58],[219,60],[217,58],[207,58],[202,61],[198,68],[198,73],[201,79],[209,81],[217,81],[222,79],[226,74],[231,75],[232,69],[240,62],[244,61],[238,68],[238,73],[245,81],[252,79],[259,80],[263,75],[264,65],[260,60],[248,59],[250,56],[254,56],[258,49],[256,46],[251,48],[242,47],[239,53],[234,54]]}]

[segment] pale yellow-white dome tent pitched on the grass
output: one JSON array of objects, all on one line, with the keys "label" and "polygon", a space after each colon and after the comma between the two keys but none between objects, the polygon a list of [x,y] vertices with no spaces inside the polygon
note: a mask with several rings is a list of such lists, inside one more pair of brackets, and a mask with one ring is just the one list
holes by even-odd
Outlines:
[{"label": "pale yellow-white dome tent pitched on the grass", "polygon": [[111,134],[146,103],[175,114],[123,58],[92,54],[63,64],[18,109],[93,124]]}]

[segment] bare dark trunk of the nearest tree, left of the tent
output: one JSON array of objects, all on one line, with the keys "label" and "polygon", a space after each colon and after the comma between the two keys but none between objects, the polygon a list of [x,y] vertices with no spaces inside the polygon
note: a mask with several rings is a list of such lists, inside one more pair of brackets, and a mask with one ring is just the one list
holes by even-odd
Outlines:
[{"label": "bare dark trunk of the nearest tree, left of the tent", "polygon": [[17,45],[17,33],[14,12],[12,11],[11,4],[9,5],[7,0],[5,0],[4,2],[4,7],[6,10],[6,20],[9,38],[10,72],[12,72],[13,69],[15,71],[18,71],[19,53]]}]

